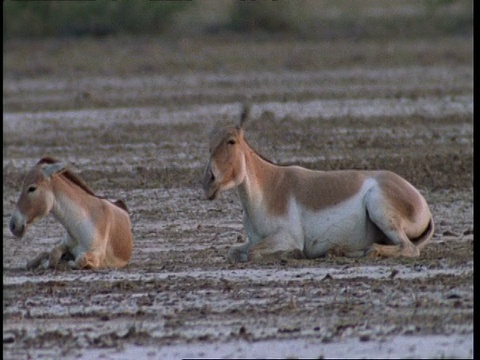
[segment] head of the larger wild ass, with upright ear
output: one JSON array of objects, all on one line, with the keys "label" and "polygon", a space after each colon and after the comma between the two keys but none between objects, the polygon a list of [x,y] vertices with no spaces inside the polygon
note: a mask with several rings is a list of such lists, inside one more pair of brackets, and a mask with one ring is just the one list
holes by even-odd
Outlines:
[{"label": "head of the larger wild ass, with upright ear", "polygon": [[249,107],[245,106],[238,125],[215,127],[210,133],[210,158],[203,178],[203,189],[209,200],[241,184],[245,178],[247,144],[243,124],[248,112]]}]

